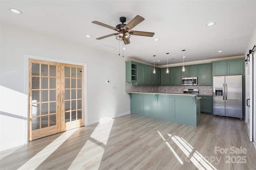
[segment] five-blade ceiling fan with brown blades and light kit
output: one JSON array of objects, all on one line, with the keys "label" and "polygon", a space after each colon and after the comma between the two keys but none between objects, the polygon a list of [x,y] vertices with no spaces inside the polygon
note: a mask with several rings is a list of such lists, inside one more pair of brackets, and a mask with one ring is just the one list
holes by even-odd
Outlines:
[{"label": "five-blade ceiling fan with brown blades and light kit", "polygon": [[134,17],[130,22],[128,22],[127,24],[125,24],[124,22],[126,22],[126,18],[125,17],[120,17],[120,24],[116,25],[116,27],[112,27],[110,25],[106,25],[104,23],[98,22],[98,21],[92,21],[92,23],[95,23],[97,25],[101,25],[103,27],[107,27],[110,29],[113,29],[115,31],[117,31],[117,33],[112,33],[110,35],[105,35],[103,37],[99,37],[96,39],[104,39],[107,37],[111,37],[113,35],[116,35],[116,39],[119,41],[124,41],[124,44],[130,44],[130,35],[140,35],[140,36],[146,36],[146,37],[153,37],[153,35],[155,33],[151,33],[151,32],[143,32],[143,31],[132,31],[131,29],[134,28],[136,25],[138,25],[139,23],[141,23],[142,21],[144,21],[145,19],[141,16],[136,16]]}]

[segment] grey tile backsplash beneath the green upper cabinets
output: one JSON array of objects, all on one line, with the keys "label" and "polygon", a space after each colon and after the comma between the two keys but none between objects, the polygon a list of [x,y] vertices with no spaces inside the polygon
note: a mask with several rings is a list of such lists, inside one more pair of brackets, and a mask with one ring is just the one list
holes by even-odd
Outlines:
[{"label": "grey tile backsplash beneath the green upper cabinets", "polygon": [[212,95],[212,86],[132,86],[126,82],[126,92],[183,93],[184,88],[198,88],[200,95]]}]

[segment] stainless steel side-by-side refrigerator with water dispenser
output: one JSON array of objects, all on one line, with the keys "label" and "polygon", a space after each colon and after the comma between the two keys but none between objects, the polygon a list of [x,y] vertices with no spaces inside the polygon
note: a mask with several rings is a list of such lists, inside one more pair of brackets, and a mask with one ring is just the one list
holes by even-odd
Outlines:
[{"label": "stainless steel side-by-side refrigerator with water dispenser", "polygon": [[213,114],[242,120],[242,75],[213,77]]}]

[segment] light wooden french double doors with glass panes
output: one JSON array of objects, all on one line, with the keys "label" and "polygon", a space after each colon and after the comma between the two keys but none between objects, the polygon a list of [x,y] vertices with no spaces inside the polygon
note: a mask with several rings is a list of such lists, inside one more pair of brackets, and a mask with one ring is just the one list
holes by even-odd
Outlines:
[{"label": "light wooden french double doors with glass panes", "polygon": [[83,70],[29,59],[29,141],[84,125]]}]

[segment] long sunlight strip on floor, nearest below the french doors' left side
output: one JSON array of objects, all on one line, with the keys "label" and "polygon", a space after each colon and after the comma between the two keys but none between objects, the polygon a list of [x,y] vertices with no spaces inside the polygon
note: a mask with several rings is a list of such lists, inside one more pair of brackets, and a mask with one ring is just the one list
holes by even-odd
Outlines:
[{"label": "long sunlight strip on floor, nearest below the french doors' left side", "polygon": [[78,128],[71,129],[69,131],[64,132],[57,139],[55,139],[52,143],[47,145],[44,149],[38,152],[35,156],[33,156],[30,160],[28,160],[25,164],[23,164],[18,170],[24,169],[36,169],[40,164],[44,162],[58,147],[60,147],[71,135],[73,135]]}]

